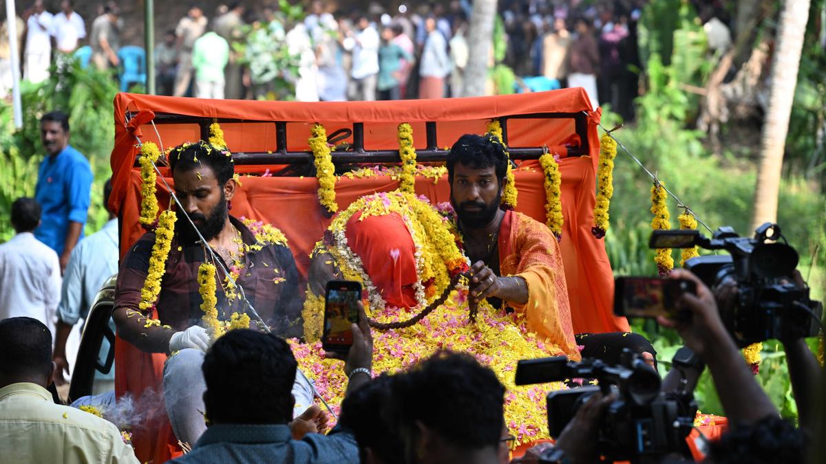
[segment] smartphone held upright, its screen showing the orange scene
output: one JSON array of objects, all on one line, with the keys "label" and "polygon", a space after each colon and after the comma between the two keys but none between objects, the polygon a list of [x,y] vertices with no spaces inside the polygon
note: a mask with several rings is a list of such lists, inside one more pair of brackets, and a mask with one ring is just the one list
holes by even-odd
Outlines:
[{"label": "smartphone held upright, its screen showing the orange scene", "polygon": [[324,303],[324,334],[321,346],[334,353],[347,353],[353,344],[350,324],[358,323],[361,284],[353,281],[327,282]]}]

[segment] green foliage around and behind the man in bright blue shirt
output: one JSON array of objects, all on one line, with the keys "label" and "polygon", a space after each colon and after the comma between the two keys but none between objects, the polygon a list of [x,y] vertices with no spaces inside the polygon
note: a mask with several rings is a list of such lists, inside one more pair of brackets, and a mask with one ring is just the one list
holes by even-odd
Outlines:
[{"label": "green foliage around and behind the man in bright blue shirt", "polygon": [[69,143],[89,159],[92,167],[92,206],[85,233],[91,234],[106,223],[102,191],[103,183],[112,176],[109,156],[115,139],[112,101],[116,92],[111,73],[93,67],[81,69],[74,63],[65,69],[53,67],[51,77],[43,83],[23,83],[21,130],[13,128],[12,107],[0,102],[0,243],[14,234],[7,221],[12,201],[34,196],[37,169],[44,156],[40,117],[49,111],[62,110],[69,115]]}]

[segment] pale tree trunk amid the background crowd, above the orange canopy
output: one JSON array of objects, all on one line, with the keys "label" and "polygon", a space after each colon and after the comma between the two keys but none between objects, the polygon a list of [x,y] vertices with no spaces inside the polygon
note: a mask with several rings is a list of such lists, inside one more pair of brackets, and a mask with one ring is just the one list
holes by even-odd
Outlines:
[{"label": "pale tree trunk amid the background crowd, above the orange canopy", "polygon": [[496,0],[473,0],[473,13],[468,26],[468,65],[464,73],[463,97],[481,97],[485,94],[494,17]]}]

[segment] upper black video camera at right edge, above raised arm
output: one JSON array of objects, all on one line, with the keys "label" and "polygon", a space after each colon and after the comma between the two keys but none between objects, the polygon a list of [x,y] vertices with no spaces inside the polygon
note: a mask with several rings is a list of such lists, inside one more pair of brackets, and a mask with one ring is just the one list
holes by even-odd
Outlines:
[{"label": "upper black video camera at right edge, above raised arm", "polygon": [[649,247],[722,249],[728,255],[707,255],[686,261],[705,285],[714,289],[726,281],[738,286],[737,301],[720,308],[729,334],[741,346],[767,339],[794,340],[817,336],[823,305],[809,299],[809,287],[792,280],[798,254],[780,226],[766,223],[754,238],[740,237],[731,227],[720,227],[711,239],[696,230],[655,230]]}]

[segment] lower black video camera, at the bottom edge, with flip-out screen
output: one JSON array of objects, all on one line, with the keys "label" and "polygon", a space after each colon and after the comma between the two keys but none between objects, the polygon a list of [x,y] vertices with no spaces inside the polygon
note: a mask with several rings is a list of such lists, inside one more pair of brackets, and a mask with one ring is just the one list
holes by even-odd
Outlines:
[{"label": "lower black video camera, at the bottom edge, with flip-out screen", "polygon": [[686,436],[691,433],[697,406],[691,392],[662,393],[657,372],[627,348],[619,366],[599,359],[569,362],[567,357],[520,361],[516,385],[566,379],[596,379],[585,386],[548,393],[548,430],[558,438],[577,410],[597,391],[619,397],[605,411],[597,449],[611,461],[658,462],[679,453],[686,456]]}]

